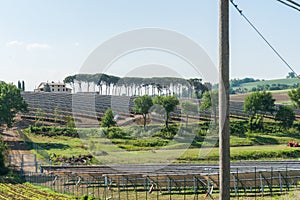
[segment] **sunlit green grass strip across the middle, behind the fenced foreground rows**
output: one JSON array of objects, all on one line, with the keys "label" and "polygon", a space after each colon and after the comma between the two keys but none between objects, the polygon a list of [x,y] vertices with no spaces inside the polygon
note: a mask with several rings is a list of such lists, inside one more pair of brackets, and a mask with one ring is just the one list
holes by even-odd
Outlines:
[{"label": "sunlit green grass strip across the middle, behind the fenced foreground rows", "polygon": [[[162,161],[197,163],[216,162],[219,158],[218,147],[190,148],[188,143],[177,143],[174,141],[171,141],[166,146],[143,147],[134,146],[131,140],[91,138],[89,141],[92,143],[84,145],[86,140],[83,141],[80,138],[65,136],[45,137],[34,134],[27,134],[27,136],[43,148],[48,155],[55,154],[57,157],[72,157],[82,154],[92,154],[97,159],[94,159],[90,164],[100,164],[104,162],[126,163],[128,160],[135,160],[137,163]],[[300,158],[300,148],[290,148],[287,147],[286,144],[288,141],[297,141],[299,139],[300,136],[298,134],[284,135],[282,133],[246,133],[242,137],[231,136],[231,159],[298,159]],[[98,145],[95,143],[95,140],[98,141]],[[118,142],[115,144],[111,143],[111,141],[114,140]],[[125,148],[124,145],[122,146],[126,141],[127,148]],[[215,138],[214,141],[217,142],[217,139]],[[118,146],[119,144],[121,144],[121,146]],[[35,150],[33,149],[32,151]],[[102,152],[102,154],[99,155],[97,152]],[[39,158],[42,158],[41,154],[39,154]]]}]

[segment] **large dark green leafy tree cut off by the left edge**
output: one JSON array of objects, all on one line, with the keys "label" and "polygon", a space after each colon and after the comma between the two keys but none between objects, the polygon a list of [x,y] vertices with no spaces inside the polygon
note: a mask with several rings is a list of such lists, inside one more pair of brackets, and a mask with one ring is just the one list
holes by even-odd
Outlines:
[{"label": "large dark green leafy tree cut off by the left edge", "polygon": [[11,127],[13,118],[18,112],[26,112],[27,104],[20,90],[12,85],[0,82],[0,124]]}]

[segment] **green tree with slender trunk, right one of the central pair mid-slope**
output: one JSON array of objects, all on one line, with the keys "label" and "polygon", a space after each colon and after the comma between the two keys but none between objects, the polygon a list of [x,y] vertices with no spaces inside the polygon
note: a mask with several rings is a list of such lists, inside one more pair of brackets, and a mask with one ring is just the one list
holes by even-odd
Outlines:
[{"label": "green tree with slender trunk, right one of the central pair mid-slope", "polygon": [[175,96],[156,96],[153,101],[165,109],[165,125],[166,128],[169,128],[170,113],[174,112],[176,106],[179,104],[178,98]]}]

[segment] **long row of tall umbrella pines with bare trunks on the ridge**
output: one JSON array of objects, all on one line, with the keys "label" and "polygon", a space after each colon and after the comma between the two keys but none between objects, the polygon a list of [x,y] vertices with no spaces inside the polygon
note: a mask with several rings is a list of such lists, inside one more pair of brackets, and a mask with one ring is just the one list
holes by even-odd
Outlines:
[{"label": "long row of tall umbrella pines with bare trunks on the ridge", "polygon": [[[117,77],[107,74],[75,74],[67,76],[64,83],[70,84],[77,92],[98,92],[101,95],[155,96],[201,98],[205,91],[211,89],[210,83],[202,83],[200,78],[176,77]],[[83,87],[85,86],[85,87]]]}]

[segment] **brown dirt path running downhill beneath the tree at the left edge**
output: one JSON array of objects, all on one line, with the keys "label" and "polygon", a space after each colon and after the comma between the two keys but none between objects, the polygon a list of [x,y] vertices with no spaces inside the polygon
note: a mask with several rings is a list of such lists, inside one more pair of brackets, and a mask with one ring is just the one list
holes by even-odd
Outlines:
[{"label": "brown dirt path running downhill beneath the tree at the left edge", "polygon": [[35,155],[30,152],[26,143],[18,134],[17,128],[1,127],[0,132],[4,142],[8,147],[9,165],[20,169],[23,159],[23,170],[26,172],[35,172]]}]

